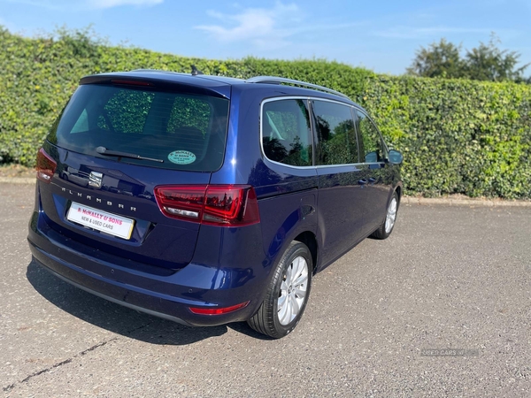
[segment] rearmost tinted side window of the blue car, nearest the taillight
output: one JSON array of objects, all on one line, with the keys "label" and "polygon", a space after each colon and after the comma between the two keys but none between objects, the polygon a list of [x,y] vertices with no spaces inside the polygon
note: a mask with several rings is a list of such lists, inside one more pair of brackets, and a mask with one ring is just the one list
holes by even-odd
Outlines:
[{"label": "rearmost tinted side window of the blue car, nearest the taillight", "polygon": [[270,160],[284,165],[312,165],[312,130],[304,100],[264,103],[262,145]]}]

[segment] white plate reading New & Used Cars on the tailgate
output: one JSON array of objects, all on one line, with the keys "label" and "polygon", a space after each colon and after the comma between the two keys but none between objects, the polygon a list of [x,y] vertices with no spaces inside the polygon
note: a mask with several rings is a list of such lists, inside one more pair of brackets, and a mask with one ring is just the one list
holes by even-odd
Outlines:
[{"label": "white plate reading New & Used Cars on the tailgate", "polygon": [[135,226],[135,220],[131,218],[117,216],[74,202],[68,210],[66,219],[124,239],[131,237],[133,226]]}]

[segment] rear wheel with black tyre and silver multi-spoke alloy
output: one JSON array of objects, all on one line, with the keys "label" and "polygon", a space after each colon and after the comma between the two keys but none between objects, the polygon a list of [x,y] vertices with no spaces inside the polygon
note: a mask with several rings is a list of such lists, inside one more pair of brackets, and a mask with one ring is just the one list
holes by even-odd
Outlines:
[{"label": "rear wheel with black tyre and silver multi-spoke alloy", "polygon": [[281,256],[258,312],[247,323],[259,333],[280,339],[303,316],[312,287],[312,254],[300,241],[292,241]]}]

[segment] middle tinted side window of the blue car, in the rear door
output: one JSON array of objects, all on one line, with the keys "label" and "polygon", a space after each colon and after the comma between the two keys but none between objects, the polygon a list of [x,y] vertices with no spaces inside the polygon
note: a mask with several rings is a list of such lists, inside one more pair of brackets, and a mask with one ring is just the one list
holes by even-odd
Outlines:
[{"label": "middle tinted side window of the blue car, in the rear door", "polygon": [[358,163],[358,147],[350,106],[313,101],[318,136],[318,165]]}]

